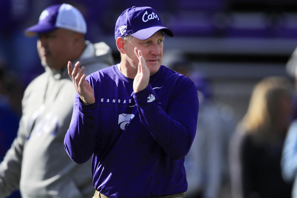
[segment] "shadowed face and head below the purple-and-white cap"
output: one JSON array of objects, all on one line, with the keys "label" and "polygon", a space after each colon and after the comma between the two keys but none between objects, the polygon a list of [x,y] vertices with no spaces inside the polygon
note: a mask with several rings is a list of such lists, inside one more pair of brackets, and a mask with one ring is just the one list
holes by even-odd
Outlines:
[{"label": "shadowed face and head below the purple-and-white cap", "polygon": [[74,34],[70,30],[57,28],[38,34],[37,51],[43,66],[61,69],[73,60]]}]

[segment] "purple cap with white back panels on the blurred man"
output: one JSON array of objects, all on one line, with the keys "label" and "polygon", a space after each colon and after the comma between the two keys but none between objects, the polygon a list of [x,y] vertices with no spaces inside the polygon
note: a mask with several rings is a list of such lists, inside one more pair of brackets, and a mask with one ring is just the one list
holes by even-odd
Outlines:
[{"label": "purple cap with white back panels on the blurred man", "polygon": [[38,24],[25,30],[26,36],[45,33],[56,28],[69,29],[74,32],[87,33],[87,24],[80,11],[66,3],[47,7],[41,12]]}]

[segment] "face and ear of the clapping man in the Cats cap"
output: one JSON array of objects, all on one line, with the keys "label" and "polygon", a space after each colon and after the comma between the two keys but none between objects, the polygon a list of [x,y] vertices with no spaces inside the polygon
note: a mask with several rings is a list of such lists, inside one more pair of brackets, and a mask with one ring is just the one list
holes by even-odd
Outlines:
[{"label": "face and ear of the clapping man in the Cats cap", "polygon": [[139,63],[137,56],[134,53],[134,48],[141,50],[146,65],[149,68],[150,75],[156,73],[161,67],[163,57],[163,40],[164,34],[162,30],[157,31],[153,36],[146,40],[140,40],[132,37],[131,40],[126,40],[128,46],[126,48],[126,55],[132,60],[132,67],[136,68]]}]

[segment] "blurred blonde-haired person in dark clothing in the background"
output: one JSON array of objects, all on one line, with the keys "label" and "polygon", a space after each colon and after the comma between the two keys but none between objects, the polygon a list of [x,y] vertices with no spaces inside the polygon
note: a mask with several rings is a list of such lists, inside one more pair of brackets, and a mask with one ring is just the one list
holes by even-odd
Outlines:
[{"label": "blurred blonde-haired person in dark clothing in the background", "polygon": [[255,85],[247,113],[230,140],[231,192],[234,198],[291,197],[281,175],[281,155],[292,113],[291,83],[266,77]]}]

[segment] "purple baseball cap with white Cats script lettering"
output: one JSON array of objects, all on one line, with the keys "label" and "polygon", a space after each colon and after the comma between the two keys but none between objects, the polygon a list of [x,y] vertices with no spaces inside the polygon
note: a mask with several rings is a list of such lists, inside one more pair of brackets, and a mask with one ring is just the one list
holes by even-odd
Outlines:
[{"label": "purple baseball cap with white Cats script lettering", "polygon": [[133,6],[125,10],[115,24],[114,38],[132,35],[141,40],[148,39],[158,30],[163,30],[173,37],[173,32],[162,25],[157,12],[151,7]]}]

